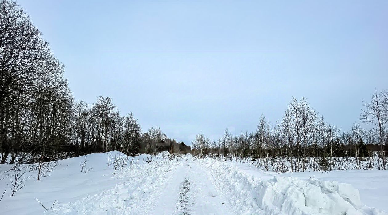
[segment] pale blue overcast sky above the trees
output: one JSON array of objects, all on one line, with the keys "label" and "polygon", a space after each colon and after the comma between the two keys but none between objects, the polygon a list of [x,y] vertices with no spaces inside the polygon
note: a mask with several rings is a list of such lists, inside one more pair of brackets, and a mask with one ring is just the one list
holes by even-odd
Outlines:
[{"label": "pale blue overcast sky above the trees", "polygon": [[347,131],[388,88],[388,1],[19,0],[76,100],[110,96],[189,143],[275,124],[306,96]]}]

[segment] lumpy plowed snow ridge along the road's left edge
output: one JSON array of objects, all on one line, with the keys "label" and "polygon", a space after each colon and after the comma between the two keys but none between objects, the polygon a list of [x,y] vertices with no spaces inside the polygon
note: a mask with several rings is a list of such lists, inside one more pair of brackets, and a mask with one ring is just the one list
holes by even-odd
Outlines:
[{"label": "lumpy plowed snow ridge along the road's left edge", "polygon": [[[138,157],[141,158],[142,155]],[[55,204],[54,210],[45,214],[137,214],[144,199],[155,187],[163,183],[171,168],[177,165],[177,159],[172,161],[156,159],[149,163],[136,160],[113,175],[127,178],[124,183],[94,196],[86,196],[74,203]]]}]

